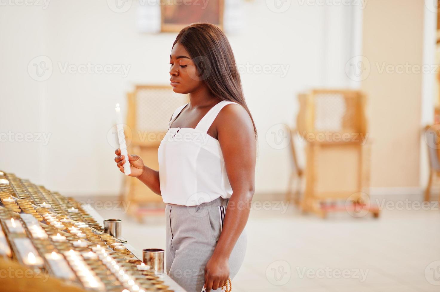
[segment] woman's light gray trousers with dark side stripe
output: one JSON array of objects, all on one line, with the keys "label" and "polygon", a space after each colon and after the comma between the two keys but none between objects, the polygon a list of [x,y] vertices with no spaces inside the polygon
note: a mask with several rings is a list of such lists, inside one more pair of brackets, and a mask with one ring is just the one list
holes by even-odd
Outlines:
[{"label": "woman's light gray trousers with dark side stripe", "polygon": [[[187,292],[201,292],[205,266],[222,231],[229,199],[217,198],[198,206],[167,204],[165,207],[167,274]],[[246,227],[229,257],[229,278],[235,277],[246,252]],[[234,283],[232,281],[232,283]],[[221,291],[221,288],[211,291]]]}]

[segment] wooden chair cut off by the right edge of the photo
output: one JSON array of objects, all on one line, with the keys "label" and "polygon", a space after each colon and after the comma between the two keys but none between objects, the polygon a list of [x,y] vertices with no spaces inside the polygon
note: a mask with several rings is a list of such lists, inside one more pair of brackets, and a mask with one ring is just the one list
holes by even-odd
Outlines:
[{"label": "wooden chair cut off by the right edge of the photo", "polygon": [[[440,144],[439,136],[437,134],[438,131],[440,131],[440,125],[427,126],[425,129],[425,142],[428,145],[429,157],[429,179],[425,190],[426,202],[430,201],[433,180],[437,180],[440,177]],[[438,200],[440,202],[440,195]]]}]

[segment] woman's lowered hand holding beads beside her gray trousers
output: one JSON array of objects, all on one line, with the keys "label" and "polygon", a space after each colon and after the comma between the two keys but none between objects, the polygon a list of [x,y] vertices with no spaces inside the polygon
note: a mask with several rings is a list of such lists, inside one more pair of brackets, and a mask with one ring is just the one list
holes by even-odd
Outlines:
[{"label": "woman's lowered hand holding beads beside her gray trousers", "polygon": [[227,278],[229,278],[229,259],[224,256],[211,256],[205,267],[206,292],[220,288]]}]

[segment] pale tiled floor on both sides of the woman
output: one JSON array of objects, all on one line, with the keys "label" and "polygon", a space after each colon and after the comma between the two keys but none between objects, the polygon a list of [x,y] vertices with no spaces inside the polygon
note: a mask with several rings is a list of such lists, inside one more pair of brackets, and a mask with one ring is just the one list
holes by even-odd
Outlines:
[{"label": "pale tiled floor on both sides of the woman", "polygon": [[[97,211],[123,219],[123,235],[135,248],[165,248],[162,213],[140,224],[122,210]],[[246,258],[232,281],[235,292],[440,291],[440,262],[433,263],[440,260],[438,209],[325,220],[293,206],[285,213],[253,209],[246,228]]]}]

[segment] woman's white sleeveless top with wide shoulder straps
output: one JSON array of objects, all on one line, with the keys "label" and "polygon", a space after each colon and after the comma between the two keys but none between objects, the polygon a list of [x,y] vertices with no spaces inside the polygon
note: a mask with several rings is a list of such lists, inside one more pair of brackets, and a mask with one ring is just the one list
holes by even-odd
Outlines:
[{"label": "woman's white sleeveless top with wide shoulder straps", "polygon": [[220,110],[234,101],[220,101],[193,128],[170,128],[186,105],[176,109],[158,149],[159,180],[165,203],[194,206],[216,198],[231,198],[220,142],[209,127]]}]

